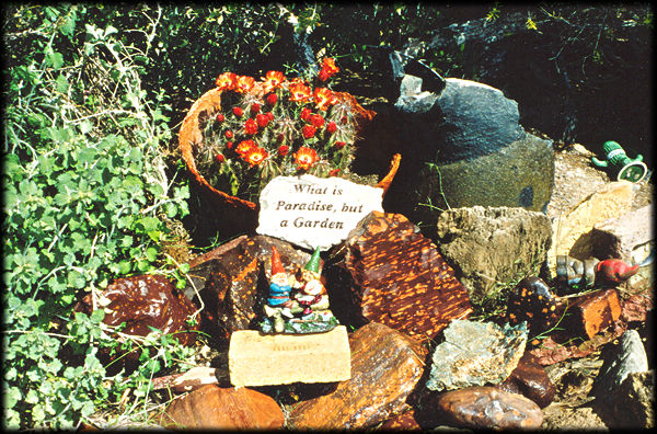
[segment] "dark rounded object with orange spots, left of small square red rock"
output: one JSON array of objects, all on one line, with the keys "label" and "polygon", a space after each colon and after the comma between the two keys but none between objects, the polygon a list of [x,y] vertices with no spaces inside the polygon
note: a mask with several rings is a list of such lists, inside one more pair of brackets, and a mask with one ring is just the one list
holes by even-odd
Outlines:
[{"label": "dark rounded object with orange spots, left of small square red rock", "polygon": [[511,326],[527,321],[530,333],[537,335],[556,324],[557,297],[543,279],[525,277],[508,299],[506,317]]}]

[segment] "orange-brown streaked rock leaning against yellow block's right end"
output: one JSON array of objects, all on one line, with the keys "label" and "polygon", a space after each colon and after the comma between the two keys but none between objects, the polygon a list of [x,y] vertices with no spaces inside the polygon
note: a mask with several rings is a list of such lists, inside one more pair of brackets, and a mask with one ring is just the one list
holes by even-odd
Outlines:
[{"label": "orange-brown streaked rock leaning against yellow block's right end", "polygon": [[424,372],[424,347],[370,322],[349,336],[351,379],[335,391],[296,404],[291,429],[364,429],[411,410],[406,399]]}]

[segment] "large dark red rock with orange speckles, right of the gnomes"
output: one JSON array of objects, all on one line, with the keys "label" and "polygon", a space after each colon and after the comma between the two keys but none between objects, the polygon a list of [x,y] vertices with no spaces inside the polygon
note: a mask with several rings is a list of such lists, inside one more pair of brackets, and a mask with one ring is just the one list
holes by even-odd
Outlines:
[{"label": "large dark red rock with orange speckles, right of the gnomes", "polygon": [[400,214],[370,213],[334,252],[325,275],[342,323],[373,321],[422,339],[472,311],[436,245]]}]

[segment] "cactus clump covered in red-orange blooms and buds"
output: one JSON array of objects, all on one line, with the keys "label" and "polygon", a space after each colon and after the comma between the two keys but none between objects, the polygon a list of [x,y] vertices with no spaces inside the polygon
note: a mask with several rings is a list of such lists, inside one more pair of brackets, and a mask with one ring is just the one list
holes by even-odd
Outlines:
[{"label": "cactus clump covered in red-orange blooms and buds", "polygon": [[201,124],[195,150],[199,173],[218,190],[250,201],[277,175],[345,175],[359,117],[353,95],[326,81],[338,72],[331,58],[314,81],[268,71],[261,80],[223,72],[216,84],[221,110]]}]

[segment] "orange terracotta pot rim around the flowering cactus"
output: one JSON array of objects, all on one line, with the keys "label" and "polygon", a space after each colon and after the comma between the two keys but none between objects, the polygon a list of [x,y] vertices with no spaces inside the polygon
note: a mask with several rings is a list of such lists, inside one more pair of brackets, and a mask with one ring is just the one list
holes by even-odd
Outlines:
[{"label": "orange terracotta pot rim around the flowering cactus", "polygon": [[[343,95],[345,95],[343,93]],[[348,94],[347,94],[348,95]],[[360,106],[354,96],[348,95],[356,104],[356,111],[364,121],[371,121],[374,112],[365,110]],[[214,116],[221,108],[221,90],[211,89],[204,93],[187,112],[183,119],[178,133],[178,146],[183,160],[192,173],[194,180],[200,186],[204,196],[209,202],[209,206],[217,212],[217,217],[223,221],[222,226],[231,226],[237,232],[251,231],[257,227],[258,205],[253,202],[232,196],[215,189],[208,181],[198,173],[196,161],[194,160],[193,147],[203,141],[203,133],[199,127],[199,117],[203,113]],[[383,189],[383,194],[388,191],[392,180],[399,169],[401,155],[395,153],[392,158],[388,174],[377,184],[377,187]]]}]

